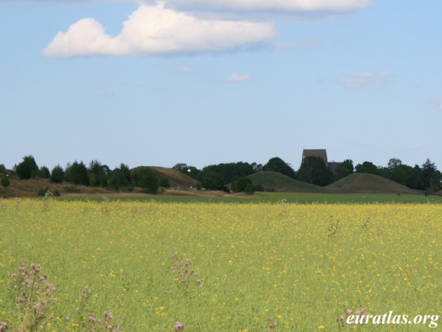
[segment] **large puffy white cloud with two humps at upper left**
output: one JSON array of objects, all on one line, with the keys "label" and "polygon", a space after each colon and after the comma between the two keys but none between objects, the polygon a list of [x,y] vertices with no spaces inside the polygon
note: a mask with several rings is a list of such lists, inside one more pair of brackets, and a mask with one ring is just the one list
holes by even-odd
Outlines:
[{"label": "large puffy white cloud with two humps at upper left", "polygon": [[77,21],[58,33],[41,51],[46,57],[133,55],[231,50],[276,37],[273,24],[252,21],[204,20],[184,12],[142,5],[113,37],[92,18]]}]

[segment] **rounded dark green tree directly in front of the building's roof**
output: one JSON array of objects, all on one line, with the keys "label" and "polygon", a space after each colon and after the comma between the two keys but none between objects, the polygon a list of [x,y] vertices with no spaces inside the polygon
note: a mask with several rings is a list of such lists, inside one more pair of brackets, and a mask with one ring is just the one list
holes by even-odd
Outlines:
[{"label": "rounded dark green tree directly in front of the building's roof", "polygon": [[329,185],[333,182],[333,172],[325,165],[323,158],[308,156],[299,167],[298,180],[312,185]]}]

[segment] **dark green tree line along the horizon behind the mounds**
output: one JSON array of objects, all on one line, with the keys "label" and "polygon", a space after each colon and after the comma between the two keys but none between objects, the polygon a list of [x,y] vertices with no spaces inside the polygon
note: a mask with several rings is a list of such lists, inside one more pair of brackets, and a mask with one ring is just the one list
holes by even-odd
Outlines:
[{"label": "dark green tree line along the horizon behind the mounds", "polygon": [[[436,165],[425,160],[421,166],[404,165],[398,158],[391,158],[386,167],[376,166],[369,161],[354,166],[352,160],[344,160],[338,163],[334,169],[327,167],[325,161],[318,156],[307,156],[298,170],[294,170],[290,164],[278,157],[271,158],[265,165],[257,163],[220,163],[208,165],[202,169],[189,166],[186,163],[177,163],[172,167],[198,181],[197,189],[226,190],[228,192],[263,191],[260,185],[253,185],[250,176],[258,172],[278,172],[298,181],[325,186],[338,181],[353,173],[369,173],[383,176],[397,183],[401,183],[410,189],[437,192],[441,190],[442,174]],[[137,167],[129,169],[128,165],[121,163],[119,167],[110,169],[102,165],[98,160],[92,160],[89,165],[82,161],[68,163],[66,167],[57,165],[51,170],[46,166],[38,167],[35,158],[24,156],[21,163],[16,164],[12,172],[21,179],[34,177],[49,178],[53,183],[68,182],[73,185],[86,185],[90,187],[109,187],[113,190],[133,187],[142,187],[150,194],[155,194],[158,188],[170,187],[167,178],[158,177],[149,167]],[[1,175],[3,174],[3,176]],[[9,185],[6,169],[0,165],[1,185]],[[227,187],[227,185],[230,185]]]}]

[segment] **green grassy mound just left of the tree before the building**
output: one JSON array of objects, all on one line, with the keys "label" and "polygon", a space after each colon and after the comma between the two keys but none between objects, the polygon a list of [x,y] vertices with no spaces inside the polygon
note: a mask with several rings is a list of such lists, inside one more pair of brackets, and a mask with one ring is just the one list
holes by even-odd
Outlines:
[{"label": "green grassy mound just left of the tree before the building", "polygon": [[278,172],[259,172],[249,176],[253,185],[262,185],[266,191],[274,192],[325,192],[323,187],[296,181]]}]

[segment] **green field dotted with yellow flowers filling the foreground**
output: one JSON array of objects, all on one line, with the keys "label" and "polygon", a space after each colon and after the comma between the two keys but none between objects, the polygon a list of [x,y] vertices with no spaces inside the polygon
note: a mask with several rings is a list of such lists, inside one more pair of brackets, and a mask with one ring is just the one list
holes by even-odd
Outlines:
[{"label": "green field dotted with yellow flowers filling the foreground", "polygon": [[81,319],[109,313],[121,331],[162,332],[346,331],[337,320],[360,308],[439,315],[441,233],[440,204],[1,200],[0,322],[21,319],[14,286],[30,264],[53,285],[35,331],[85,331]]}]

